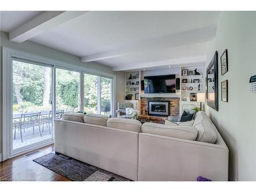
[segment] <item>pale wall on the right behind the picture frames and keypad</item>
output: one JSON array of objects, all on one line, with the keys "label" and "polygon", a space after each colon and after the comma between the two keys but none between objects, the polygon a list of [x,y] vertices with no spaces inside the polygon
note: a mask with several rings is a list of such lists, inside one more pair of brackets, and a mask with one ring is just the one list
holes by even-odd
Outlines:
[{"label": "pale wall on the right behind the picture frames and keypad", "polygon": [[[256,75],[255,12],[222,12],[207,64],[219,52],[219,111],[206,106],[229,148],[229,180],[256,181],[256,94],[249,78]],[[228,72],[221,76],[220,56],[228,49]],[[228,102],[221,101],[221,81],[228,80]]]}]

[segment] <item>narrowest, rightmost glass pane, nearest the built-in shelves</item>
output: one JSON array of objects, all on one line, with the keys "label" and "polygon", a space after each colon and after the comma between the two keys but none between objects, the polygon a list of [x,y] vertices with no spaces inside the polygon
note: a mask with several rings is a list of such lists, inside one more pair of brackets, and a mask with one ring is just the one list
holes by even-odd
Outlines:
[{"label": "narrowest, rightmost glass pane, nearest the built-in shelves", "polygon": [[100,114],[111,115],[111,78],[101,77]]}]

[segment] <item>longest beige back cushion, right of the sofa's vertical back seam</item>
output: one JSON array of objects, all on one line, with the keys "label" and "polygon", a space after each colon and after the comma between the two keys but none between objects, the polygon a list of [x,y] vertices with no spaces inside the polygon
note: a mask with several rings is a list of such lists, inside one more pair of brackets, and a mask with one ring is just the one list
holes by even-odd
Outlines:
[{"label": "longest beige back cushion, right of the sofa's vertical back seam", "polygon": [[195,140],[197,129],[193,126],[170,126],[146,122],[141,126],[142,133],[150,133],[180,139]]}]

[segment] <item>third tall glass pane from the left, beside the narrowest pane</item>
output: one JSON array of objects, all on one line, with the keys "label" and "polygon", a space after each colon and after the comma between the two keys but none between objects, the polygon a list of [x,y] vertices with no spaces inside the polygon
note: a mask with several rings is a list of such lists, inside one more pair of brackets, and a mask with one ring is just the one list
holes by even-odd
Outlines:
[{"label": "third tall glass pane from the left, beside the narrowest pane", "polygon": [[98,76],[84,74],[84,111],[98,113]]}]

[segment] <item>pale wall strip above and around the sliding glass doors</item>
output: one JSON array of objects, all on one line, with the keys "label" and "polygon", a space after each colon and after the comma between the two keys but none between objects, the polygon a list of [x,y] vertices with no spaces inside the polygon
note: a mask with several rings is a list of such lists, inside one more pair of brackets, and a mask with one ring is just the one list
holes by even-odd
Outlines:
[{"label": "pale wall strip above and around the sliding glass doors", "polygon": [[49,48],[47,46],[43,46],[40,44],[37,44],[33,41],[27,40],[25,42],[22,42],[20,44],[16,44],[15,42],[9,41],[8,33],[0,31],[0,46],[1,46],[1,54],[0,54],[0,60],[1,60],[1,66],[0,66],[0,154],[3,152],[3,143],[2,143],[2,133],[3,133],[3,126],[2,126],[2,47],[7,47],[11,49],[16,49],[24,52],[28,52],[35,55],[44,56],[47,58],[59,60],[62,62],[70,63],[73,66],[76,66],[78,68],[84,68],[87,70],[92,71],[98,71],[99,73],[109,73],[116,75],[116,102],[119,102],[124,97],[124,73],[123,72],[114,72],[110,67],[100,65],[98,63],[94,62],[81,62],[80,57],[58,51],[52,48]]}]

